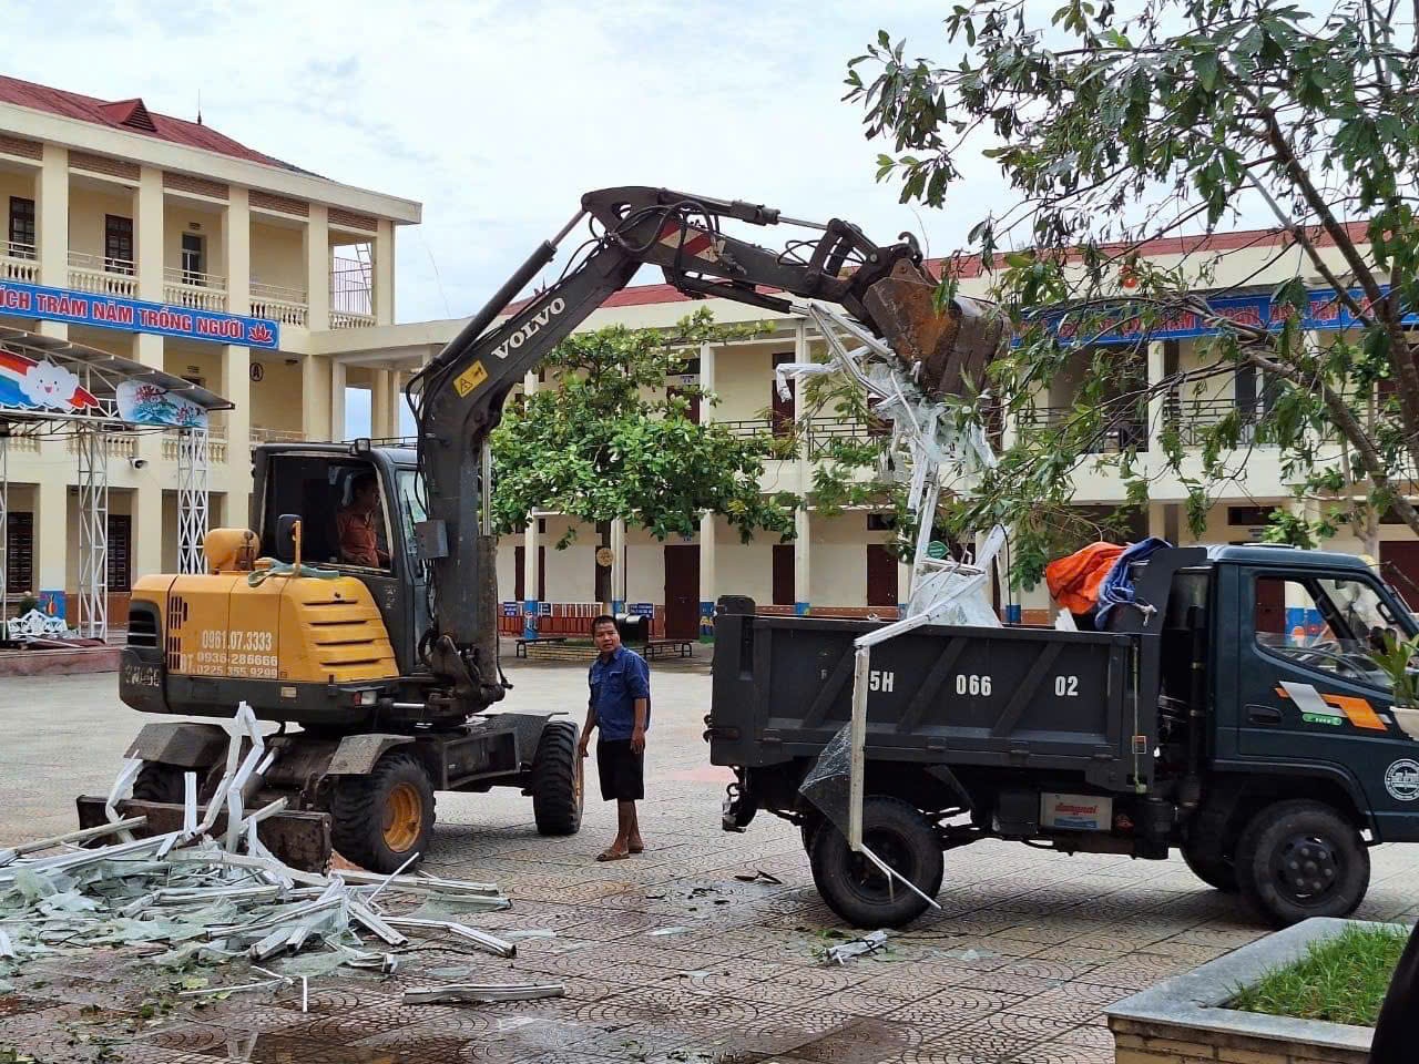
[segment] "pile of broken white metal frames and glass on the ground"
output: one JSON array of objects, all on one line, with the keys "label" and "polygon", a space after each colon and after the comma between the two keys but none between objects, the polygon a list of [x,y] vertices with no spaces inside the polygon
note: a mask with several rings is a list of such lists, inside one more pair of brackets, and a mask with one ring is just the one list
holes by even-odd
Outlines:
[{"label": "pile of broken white metal frames and glass on the ground", "polygon": [[[182,830],[140,838],[135,831],[146,819],[118,814],[116,804],[142,766],[129,760],[109,794],[108,824],[0,848],[0,990],[7,989],[4,976],[30,959],[92,946],[166,948],[153,962],[169,968],[247,959],[265,976],[194,989],[190,996],[295,979],[304,987],[311,976],[339,968],[390,973],[399,968],[399,951],[410,945],[404,931],[453,936],[499,958],[517,955],[512,942],[460,919],[511,908],[497,884],[356,870],[316,874],[280,861],[263,846],[257,826],[285,800],[251,813],[243,809],[247,782],[275,755],[265,750],[245,704],[228,732],[226,773],[200,820],[196,775],[186,776]],[[213,829],[223,810],[227,823],[219,836]],[[380,904],[399,897],[421,905],[396,915]],[[289,959],[285,975],[260,968],[281,958]],[[406,1003],[508,1000],[499,994],[526,989],[434,986],[407,992]],[[562,993],[559,985],[531,989],[535,996]]]}]

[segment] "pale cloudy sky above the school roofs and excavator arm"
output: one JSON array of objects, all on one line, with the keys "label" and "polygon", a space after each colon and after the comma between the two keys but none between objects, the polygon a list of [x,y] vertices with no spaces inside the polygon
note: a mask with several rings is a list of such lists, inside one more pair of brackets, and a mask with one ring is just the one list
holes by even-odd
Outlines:
[{"label": "pale cloudy sky above the school roofs and excavator arm", "polygon": [[949,54],[948,10],[0,0],[0,24],[45,43],[9,50],[13,77],[189,119],[200,95],[207,125],[260,152],[423,203],[423,224],[397,235],[396,318],[409,322],[471,315],[583,192],[613,184],[843,217],[881,243],[912,230],[937,254],[964,244],[1000,196],[993,167],[981,160],[945,210],[902,207],[874,179],[860,108],[841,102],[847,60],[878,28],[912,54]]}]

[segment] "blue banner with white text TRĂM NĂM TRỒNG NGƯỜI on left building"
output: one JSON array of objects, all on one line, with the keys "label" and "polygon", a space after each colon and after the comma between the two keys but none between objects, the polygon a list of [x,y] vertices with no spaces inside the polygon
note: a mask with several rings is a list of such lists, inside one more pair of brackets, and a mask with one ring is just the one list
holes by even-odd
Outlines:
[{"label": "blue banner with white text TR\u0102M N\u0102M TR\u1ed2NG NG\u01af\u1edcI on left building", "polygon": [[220,311],[196,311],[13,281],[0,281],[0,314],[265,350],[275,350],[281,342],[281,326],[265,318],[243,318]]}]

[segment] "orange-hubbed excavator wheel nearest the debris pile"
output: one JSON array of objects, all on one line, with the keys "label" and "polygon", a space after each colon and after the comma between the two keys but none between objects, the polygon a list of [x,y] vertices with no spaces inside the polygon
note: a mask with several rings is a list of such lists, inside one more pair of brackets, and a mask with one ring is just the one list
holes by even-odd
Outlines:
[{"label": "orange-hubbed excavator wheel nearest the debris pile", "polygon": [[366,776],[339,776],[331,799],[331,843],[349,861],[392,872],[429,851],[434,786],[412,753],[386,753]]}]

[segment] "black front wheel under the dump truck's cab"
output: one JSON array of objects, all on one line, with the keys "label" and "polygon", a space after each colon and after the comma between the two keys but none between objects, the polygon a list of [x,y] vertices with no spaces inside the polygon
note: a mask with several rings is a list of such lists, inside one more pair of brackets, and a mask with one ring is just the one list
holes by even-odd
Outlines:
[{"label": "black front wheel under the dump truck's cab", "polygon": [[1288,926],[1354,912],[1369,887],[1369,851],[1355,826],[1324,802],[1277,802],[1242,833],[1236,872],[1242,895]]}]

